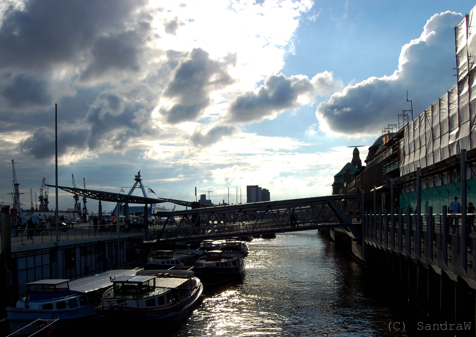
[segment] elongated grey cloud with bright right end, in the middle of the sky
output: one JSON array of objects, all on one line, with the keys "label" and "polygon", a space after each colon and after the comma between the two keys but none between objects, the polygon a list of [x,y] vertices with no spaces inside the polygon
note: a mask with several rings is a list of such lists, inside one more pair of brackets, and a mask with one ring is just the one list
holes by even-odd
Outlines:
[{"label": "elongated grey cloud with bright right end, in the middle of the sky", "polygon": [[228,118],[238,123],[261,121],[279,111],[299,106],[299,96],[313,95],[314,92],[315,88],[307,77],[271,75],[259,87],[258,93],[248,91],[237,96],[230,103]]}]

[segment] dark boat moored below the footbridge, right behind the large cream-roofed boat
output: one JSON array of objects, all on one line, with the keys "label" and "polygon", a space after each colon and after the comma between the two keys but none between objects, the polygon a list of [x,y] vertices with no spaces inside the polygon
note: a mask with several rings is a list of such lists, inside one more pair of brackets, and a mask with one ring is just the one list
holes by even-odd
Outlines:
[{"label": "dark boat moored below the footbridge, right behind the large cream-roofed boat", "polygon": [[231,279],[243,274],[245,261],[242,257],[229,255],[221,250],[209,250],[197,260],[195,275],[208,286]]}]

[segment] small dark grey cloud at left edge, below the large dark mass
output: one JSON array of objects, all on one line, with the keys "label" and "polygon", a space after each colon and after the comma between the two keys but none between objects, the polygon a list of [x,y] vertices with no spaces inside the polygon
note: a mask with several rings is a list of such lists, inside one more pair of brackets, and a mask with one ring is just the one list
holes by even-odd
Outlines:
[{"label": "small dark grey cloud at left edge, below the large dark mass", "polygon": [[48,82],[25,74],[9,75],[0,83],[0,97],[7,106],[21,108],[51,104]]}]

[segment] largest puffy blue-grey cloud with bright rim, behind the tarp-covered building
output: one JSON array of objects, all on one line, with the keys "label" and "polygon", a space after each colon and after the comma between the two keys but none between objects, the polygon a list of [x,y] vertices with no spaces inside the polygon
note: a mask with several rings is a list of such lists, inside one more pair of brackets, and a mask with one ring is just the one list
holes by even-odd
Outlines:
[{"label": "largest puffy blue-grey cloud with bright rim, behind the tarp-covered building", "polygon": [[421,39],[402,48],[399,70],[391,77],[371,77],[335,93],[321,103],[316,115],[330,130],[341,134],[375,134],[406,106],[406,91],[413,99],[414,116],[456,84],[454,27],[460,14],[434,15]]}]

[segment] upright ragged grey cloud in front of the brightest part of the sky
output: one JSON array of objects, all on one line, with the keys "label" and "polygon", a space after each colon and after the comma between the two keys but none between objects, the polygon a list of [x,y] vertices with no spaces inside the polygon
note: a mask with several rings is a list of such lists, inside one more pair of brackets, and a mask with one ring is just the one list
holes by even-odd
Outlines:
[{"label": "upright ragged grey cloud in front of the brightest part of the sky", "polygon": [[234,55],[228,55],[222,61],[212,60],[205,50],[194,48],[188,58],[180,60],[164,91],[173,106],[162,107],[160,113],[170,124],[196,120],[210,104],[210,93],[234,82],[228,74],[228,66],[235,62]]}]

